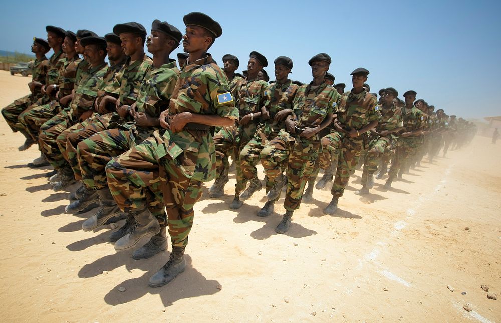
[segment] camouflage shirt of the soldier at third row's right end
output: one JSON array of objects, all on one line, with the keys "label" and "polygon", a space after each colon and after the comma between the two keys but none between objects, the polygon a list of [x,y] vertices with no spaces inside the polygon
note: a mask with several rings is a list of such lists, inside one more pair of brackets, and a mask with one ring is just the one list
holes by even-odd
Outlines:
[{"label": "camouflage shirt of the soldier at third row's right end", "polygon": [[365,90],[358,94],[343,93],[336,112],[338,123],[345,130],[358,130],[372,121],[379,121],[381,112],[376,103],[376,98]]}]

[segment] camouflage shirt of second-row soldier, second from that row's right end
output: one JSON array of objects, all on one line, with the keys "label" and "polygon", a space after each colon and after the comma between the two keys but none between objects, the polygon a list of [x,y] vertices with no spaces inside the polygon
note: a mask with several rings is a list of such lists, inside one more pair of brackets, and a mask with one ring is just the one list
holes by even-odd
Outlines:
[{"label": "camouflage shirt of second-row soldier, second from that row's right end", "polygon": [[275,137],[281,129],[285,128],[284,121],[274,121],[277,112],[284,109],[293,109],[294,98],[299,86],[287,80],[284,84],[274,82],[265,90],[265,106],[270,113],[270,119],[263,122],[258,128],[258,132],[266,137]]}]

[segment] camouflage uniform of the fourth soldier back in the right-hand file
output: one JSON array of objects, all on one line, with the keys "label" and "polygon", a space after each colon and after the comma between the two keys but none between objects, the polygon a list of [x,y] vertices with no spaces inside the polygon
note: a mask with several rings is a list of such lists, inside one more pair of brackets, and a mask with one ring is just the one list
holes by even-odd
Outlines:
[{"label": "camouflage uniform of the fourth soldier back in the right-hand file", "polygon": [[[423,126],[425,122],[424,113],[416,107],[407,109],[402,108],[402,118],[404,123],[404,130],[402,132],[410,132],[417,130]],[[400,170],[403,163],[413,154],[416,153],[416,148],[422,143],[420,136],[400,137],[398,138],[397,153],[391,164],[388,175],[394,178]]]}]

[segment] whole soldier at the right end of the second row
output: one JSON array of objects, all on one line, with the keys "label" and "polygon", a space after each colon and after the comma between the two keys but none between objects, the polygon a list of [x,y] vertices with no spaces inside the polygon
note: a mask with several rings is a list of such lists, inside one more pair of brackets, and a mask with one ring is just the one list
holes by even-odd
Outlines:
[{"label": "whole soldier at the right end of the second row", "polygon": [[[294,98],[293,115],[285,121],[286,129],[261,151],[261,164],[268,180],[273,184],[266,198],[274,201],[287,183],[282,221],[275,228],[285,233],[291,226],[291,218],[301,205],[306,182],[313,172],[320,149],[319,132],[332,122],[333,109],[337,108],[339,94],[324,82],[331,58],[325,53],[313,56],[308,64],[312,68],[313,81],[301,86]],[[286,176],[281,166],[287,160]]]}]

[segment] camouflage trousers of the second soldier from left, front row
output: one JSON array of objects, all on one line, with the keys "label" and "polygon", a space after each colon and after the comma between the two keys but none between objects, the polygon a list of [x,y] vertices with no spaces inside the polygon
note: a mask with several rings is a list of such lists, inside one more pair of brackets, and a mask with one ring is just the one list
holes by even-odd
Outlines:
[{"label": "camouflage trousers of the second soldier from left, front row", "polygon": [[[38,142],[42,125],[61,111],[62,108],[58,101],[51,101],[41,106],[32,104],[19,115],[18,121],[32,139]],[[53,125],[48,124],[42,130],[49,129]]]}]

